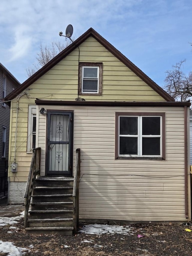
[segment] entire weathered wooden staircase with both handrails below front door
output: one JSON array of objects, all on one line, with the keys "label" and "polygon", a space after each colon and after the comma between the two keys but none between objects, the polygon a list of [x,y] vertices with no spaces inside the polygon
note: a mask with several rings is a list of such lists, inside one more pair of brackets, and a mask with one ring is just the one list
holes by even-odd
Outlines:
[{"label": "entire weathered wooden staircase with both handrails below front door", "polygon": [[72,235],[79,222],[80,149],[76,149],[74,178],[37,176],[40,166],[41,149],[37,148],[25,193],[26,233]]}]

